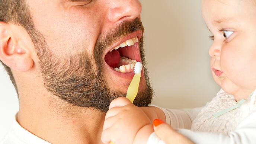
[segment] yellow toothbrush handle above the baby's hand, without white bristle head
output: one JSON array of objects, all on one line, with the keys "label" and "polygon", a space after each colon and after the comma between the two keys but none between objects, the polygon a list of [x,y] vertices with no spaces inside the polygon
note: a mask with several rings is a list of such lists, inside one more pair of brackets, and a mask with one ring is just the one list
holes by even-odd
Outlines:
[{"label": "yellow toothbrush handle above the baby's hand, without white bristle head", "polygon": [[137,96],[138,89],[140,85],[140,74],[135,74],[131,84],[128,87],[126,98],[129,99],[132,103]]}]

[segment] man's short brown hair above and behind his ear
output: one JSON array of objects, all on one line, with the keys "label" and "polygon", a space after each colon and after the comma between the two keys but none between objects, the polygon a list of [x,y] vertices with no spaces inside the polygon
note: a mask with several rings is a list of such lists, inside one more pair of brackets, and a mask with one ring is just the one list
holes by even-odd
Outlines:
[{"label": "man's short brown hair above and behind his ear", "polygon": [[[31,31],[33,28],[30,11],[24,0],[0,0],[0,22],[20,25],[27,31]],[[2,61],[1,63],[7,71],[18,94],[17,85],[10,67]]]}]

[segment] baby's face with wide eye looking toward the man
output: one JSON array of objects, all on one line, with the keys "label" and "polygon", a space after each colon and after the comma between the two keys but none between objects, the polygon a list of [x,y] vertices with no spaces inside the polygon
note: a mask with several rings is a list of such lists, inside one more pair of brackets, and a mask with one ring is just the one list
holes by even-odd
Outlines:
[{"label": "baby's face with wide eye looking toward the man", "polygon": [[209,49],[214,80],[236,100],[256,89],[256,0],[203,0],[214,36]]}]

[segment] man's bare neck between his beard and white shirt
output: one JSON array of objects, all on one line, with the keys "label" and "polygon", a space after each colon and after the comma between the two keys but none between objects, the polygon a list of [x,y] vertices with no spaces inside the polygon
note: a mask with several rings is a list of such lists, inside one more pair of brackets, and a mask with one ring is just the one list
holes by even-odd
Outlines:
[{"label": "man's bare neck between his beard and white shirt", "polygon": [[105,113],[49,99],[20,101],[19,124],[53,144],[100,144]]}]

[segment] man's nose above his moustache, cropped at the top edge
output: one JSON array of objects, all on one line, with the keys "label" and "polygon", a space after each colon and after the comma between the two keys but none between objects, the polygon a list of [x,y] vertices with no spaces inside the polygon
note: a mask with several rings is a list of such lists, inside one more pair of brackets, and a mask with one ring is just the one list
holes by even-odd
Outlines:
[{"label": "man's nose above his moustache, cropped at the top edge", "polygon": [[108,20],[110,22],[133,21],[140,17],[141,3],[138,0],[109,0]]}]

